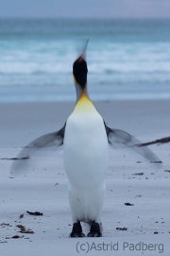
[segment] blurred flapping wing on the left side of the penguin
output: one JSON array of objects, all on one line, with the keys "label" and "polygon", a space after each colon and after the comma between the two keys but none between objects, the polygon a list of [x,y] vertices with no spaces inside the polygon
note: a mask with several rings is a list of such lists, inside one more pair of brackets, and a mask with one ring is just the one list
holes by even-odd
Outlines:
[{"label": "blurred flapping wing on the left side of the penguin", "polygon": [[19,174],[29,160],[37,151],[44,147],[58,148],[63,144],[65,133],[65,125],[57,132],[43,135],[31,141],[26,147],[15,157],[10,167],[10,174]]}]

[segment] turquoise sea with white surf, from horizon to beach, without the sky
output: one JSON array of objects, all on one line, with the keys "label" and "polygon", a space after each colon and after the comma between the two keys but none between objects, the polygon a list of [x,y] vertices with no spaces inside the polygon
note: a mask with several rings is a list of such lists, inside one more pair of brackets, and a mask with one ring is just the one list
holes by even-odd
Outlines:
[{"label": "turquoise sea with white surf, from horizon to beach, without the sky", "polygon": [[170,20],[0,19],[0,102],[75,101],[88,38],[93,101],[170,99]]}]

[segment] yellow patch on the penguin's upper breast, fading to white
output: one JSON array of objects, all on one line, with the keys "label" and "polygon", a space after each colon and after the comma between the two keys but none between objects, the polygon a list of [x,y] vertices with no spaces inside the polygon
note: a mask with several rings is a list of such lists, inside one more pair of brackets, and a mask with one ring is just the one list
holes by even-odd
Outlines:
[{"label": "yellow patch on the penguin's upper breast, fading to white", "polygon": [[76,102],[74,113],[87,113],[96,111],[93,102],[88,98],[86,91],[82,90],[79,100]]}]

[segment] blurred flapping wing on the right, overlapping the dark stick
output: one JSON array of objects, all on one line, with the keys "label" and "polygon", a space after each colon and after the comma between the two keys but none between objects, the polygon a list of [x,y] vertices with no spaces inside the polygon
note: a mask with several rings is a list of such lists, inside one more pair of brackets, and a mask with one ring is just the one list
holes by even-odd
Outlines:
[{"label": "blurred flapping wing on the right, overlapping the dark stick", "polygon": [[108,141],[111,147],[113,148],[127,147],[137,152],[138,154],[143,155],[150,162],[161,163],[161,160],[158,157],[158,155],[153,153],[147,147],[140,147],[142,142],[138,138],[127,134],[127,132],[123,130],[111,129],[106,125],[106,123],[105,123],[105,128],[108,136]]}]

